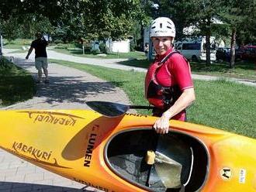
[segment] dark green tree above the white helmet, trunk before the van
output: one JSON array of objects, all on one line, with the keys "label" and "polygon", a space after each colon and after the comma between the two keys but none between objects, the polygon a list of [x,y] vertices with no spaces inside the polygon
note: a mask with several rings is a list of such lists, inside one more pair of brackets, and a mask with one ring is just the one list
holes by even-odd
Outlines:
[{"label": "dark green tree above the white helmet, trunk before the van", "polygon": [[210,65],[210,36],[213,18],[221,9],[222,0],[159,0],[161,15],[171,17],[177,26],[177,36],[182,37],[186,26],[195,26],[206,36],[206,64]]}]

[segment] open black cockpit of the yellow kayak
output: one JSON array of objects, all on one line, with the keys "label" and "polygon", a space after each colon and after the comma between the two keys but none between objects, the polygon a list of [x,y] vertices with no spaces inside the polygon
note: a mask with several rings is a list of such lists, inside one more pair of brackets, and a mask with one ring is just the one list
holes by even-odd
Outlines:
[{"label": "open black cockpit of the yellow kayak", "polygon": [[199,190],[209,164],[206,147],[198,139],[180,132],[159,135],[152,129],[113,135],[105,159],[116,175],[153,191]]}]

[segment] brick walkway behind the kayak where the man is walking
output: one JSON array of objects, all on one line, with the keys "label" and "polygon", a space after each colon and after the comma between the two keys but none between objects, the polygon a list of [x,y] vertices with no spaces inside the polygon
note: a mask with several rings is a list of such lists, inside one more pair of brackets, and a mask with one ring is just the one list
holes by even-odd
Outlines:
[{"label": "brick walkway behind the kayak where the man is walking", "polygon": [[[14,62],[29,70],[36,78],[33,60],[15,57]],[[11,105],[12,108],[88,108],[85,101],[102,100],[129,104],[126,94],[112,84],[101,79],[55,63],[49,64],[50,84],[37,84],[36,96],[28,101]]]}]

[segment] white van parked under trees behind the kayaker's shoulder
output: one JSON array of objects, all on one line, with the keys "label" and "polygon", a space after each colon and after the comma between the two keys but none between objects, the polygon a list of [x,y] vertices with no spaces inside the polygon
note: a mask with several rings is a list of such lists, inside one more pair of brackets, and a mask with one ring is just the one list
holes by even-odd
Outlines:
[{"label": "white van parked under trees behind the kayaker's shoulder", "polygon": [[[216,60],[215,37],[210,37],[211,50],[210,59]],[[206,37],[185,38],[175,42],[175,49],[178,50],[188,60],[206,60]]]}]

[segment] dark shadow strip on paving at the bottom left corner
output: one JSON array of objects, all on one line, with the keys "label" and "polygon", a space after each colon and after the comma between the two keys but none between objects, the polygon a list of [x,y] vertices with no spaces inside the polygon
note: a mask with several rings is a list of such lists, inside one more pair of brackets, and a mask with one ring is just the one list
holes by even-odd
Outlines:
[{"label": "dark shadow strip on paving at the bottom left corner", "polygon": [[86,190],[85,188],[76,189],[71,187],[58,187],[45,184],[35,183],[17,183],[17,182],[0,182],[0,191],[12,191],[12,192],[92,192],[95,190]]}]

